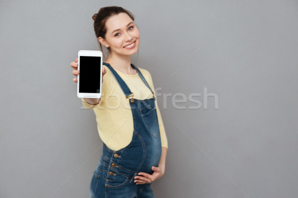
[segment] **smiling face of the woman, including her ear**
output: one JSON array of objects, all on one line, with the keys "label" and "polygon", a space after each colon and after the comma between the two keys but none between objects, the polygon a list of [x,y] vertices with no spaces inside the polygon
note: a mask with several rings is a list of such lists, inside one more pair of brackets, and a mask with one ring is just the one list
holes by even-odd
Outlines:
[{"label": "smiling face of the woman, including her ear", "polygon": [[110,55],[132,55],[139,49],[140,33],[133,19],[126,13],[111,16],[106,21],[105,39],[99,42],[111,49]]}]

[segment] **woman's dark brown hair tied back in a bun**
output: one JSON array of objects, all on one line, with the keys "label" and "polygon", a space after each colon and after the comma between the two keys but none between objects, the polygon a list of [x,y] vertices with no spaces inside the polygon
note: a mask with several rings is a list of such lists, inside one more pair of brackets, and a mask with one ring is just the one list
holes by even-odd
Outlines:
[{"label": "woman's dark brown hair tied back in a bun", "polygon": [[[130,11],[119,6],[102,7],[99,9],[98,13],[95,13],[92,16],[92,19],[94,20],[95,35],[101,50],[102,46],[98,41],[98,37],[102,37],[103,39],[105,39],[105,35],[107,33],[107,28],[105,24],[106,21],[111,16],[117,15],[119,13],[126,13],[131,17],[131,19],[133,19],[133,21],[135,20],[134,15]],[[110,48],[108,48],[108,51],[110,52]]]}]

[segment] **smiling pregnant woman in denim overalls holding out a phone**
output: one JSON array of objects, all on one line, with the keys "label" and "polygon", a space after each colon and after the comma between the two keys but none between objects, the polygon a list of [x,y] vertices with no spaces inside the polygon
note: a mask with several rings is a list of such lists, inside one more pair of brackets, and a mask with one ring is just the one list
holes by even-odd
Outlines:
[{"label": "smiling pregnant woman in denim overalls holding out a phone", "polygon": [[[105,46],[109,56],[103,63],[101,99],[81,99],[94,110],[103,141],[90,197],[154,198],[150,184],[164,174],[168,146],[150,73],[131,64],[139,30],[122,7],[102,7],[92,18],[100,48]],[[71,66],[77,76],[77,58]]]}]

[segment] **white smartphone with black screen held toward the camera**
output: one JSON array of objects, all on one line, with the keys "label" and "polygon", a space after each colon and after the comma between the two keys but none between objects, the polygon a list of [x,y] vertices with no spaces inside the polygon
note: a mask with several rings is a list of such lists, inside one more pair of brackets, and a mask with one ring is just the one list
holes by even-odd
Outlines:
[{"label": "white smartphone with black screen held toward the camera", "polygon": [[101,97],[102,81],[102,52],[93,50],[79,50],[77,75],[77,97],[97,98]]}]

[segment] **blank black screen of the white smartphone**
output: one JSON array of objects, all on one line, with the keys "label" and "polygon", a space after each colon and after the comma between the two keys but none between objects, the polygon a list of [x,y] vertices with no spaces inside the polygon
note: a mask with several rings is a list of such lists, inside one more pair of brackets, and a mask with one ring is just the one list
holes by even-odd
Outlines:
[{"label": "blank black screen of the white smartphone", "polygon": [[79,57],[79,93],[100,93],[100,61],[97,56]]}]

